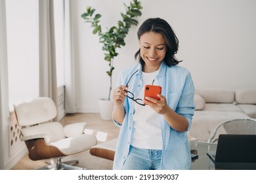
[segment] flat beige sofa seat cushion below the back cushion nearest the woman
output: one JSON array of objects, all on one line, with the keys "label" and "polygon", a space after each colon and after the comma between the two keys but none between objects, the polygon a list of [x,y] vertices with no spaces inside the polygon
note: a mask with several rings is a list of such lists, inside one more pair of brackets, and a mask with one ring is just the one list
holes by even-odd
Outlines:
[{"label": "flat beige sofa seat cushion below the back cushion nearest the woman", "polygon": [[242,108],[232,103],[205,103],[203,110],[244,112]]}]

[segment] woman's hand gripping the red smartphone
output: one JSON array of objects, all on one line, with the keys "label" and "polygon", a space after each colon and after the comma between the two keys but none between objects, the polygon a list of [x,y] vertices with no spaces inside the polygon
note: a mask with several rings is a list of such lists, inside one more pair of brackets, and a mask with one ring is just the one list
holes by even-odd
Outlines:
[{"label": "woman's hand gripping the red smartphone", "polygon": [[165,96],[158,94],[158,97],[160,100],[154,99],[152,97],[146,97],[146,99],[144,99],[144,103],[158,112],[158,114],[164,114],[167,112],[169,106],[167,105]]}]

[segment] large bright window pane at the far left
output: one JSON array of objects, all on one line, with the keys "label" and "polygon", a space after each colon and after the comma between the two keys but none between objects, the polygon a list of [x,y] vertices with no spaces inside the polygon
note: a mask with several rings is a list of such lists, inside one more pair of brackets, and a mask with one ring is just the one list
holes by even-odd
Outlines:
[{"label": "large bright window pane at the far left", "polygon": [[5,2],[9,97],[12,104],[21,98],[39,95],[38,1]]}]

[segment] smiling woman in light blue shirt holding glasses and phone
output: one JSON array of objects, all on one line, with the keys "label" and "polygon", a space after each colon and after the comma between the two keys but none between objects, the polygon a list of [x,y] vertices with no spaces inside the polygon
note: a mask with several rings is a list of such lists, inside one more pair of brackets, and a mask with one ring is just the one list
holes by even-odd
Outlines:
[{"label": "smiling woman in light blue shirt holding glasses and phone", "polygon": [[[189,71],[177,66],[179,41],[161,18],[145,20],[137,36],[139,63],[124,69],[113,94],[113,119],[121,127],[113,168],[190,169],[186,131],[194,114],[194,84]],[[148,96],[152,87],[158,91]]]}]

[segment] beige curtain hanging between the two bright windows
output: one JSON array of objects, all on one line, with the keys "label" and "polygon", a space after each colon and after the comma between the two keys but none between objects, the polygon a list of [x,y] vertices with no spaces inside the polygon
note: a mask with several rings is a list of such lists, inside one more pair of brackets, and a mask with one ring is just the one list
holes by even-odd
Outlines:
[{"label": "beige curtain hanging between the two bright windows", "polygon": [[39,0],[39,96],[51,97],[58,106],[52,0]]}]

